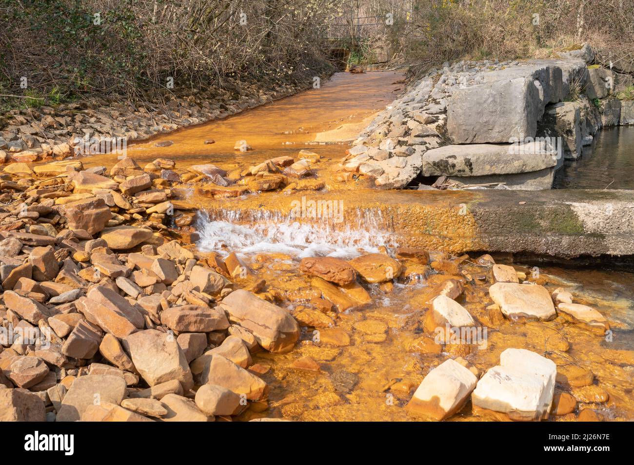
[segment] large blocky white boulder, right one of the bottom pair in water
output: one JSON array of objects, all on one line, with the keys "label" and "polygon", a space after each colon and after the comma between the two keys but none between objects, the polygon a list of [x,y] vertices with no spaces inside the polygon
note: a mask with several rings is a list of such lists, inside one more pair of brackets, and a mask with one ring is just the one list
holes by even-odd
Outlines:
[{"label": "large blocky white boulder, right one of the bottom pair in water", "polygon": [[475,407],[507,414],[510,419],[547,419],[557,366],[535,352],[508,348],[500,365],[482,376],[471,396]]}]

